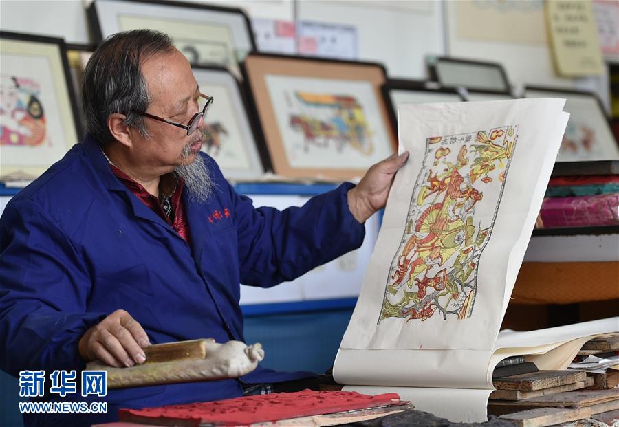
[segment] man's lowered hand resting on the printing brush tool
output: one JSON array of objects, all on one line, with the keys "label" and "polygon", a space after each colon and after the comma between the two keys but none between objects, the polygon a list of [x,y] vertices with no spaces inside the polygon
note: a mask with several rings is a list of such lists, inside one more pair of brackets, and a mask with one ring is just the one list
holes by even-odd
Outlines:
[{"label": "man's lowered hand resting on the printing brush tool", "polygon": [[109,366],[134,366],[146,360],[144,347],[149,337],[127,311],[116,310],[88,329],[78,344],[80,356],[88,362],[98,359]]}]

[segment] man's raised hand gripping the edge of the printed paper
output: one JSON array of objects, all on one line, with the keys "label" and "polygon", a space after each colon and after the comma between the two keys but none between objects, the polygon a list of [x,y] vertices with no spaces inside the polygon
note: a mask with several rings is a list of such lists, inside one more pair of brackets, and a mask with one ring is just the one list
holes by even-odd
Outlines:
[{"label": "man's raised hand gripping the edge of the printed paper", "polygon": [[364,223],[374,212],[384,208],[393,177],[408,158],[409,152],[405,151],[374,164],[359,184],[348,192],[348,208],[357,221]]}]

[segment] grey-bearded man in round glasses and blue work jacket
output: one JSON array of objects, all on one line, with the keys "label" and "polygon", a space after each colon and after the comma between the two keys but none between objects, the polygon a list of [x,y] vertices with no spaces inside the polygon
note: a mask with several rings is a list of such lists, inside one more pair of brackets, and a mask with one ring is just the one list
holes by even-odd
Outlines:
[{"label": "grey-bearded man in round glasses and blue work jacket", "polygon": [[[149,343],[243,341],[239,283],[290,281],[362,243],[406,155],[302,208],[256,209],[200,153],[212,101],[165,34],[124,32],[98,47],[83,85],[89,134],[1,219],[3,370],[134,366]],[[120,406],[225,399],[304,376],[259,367],[237,380],[109,391],[96,398],[107,414],[25,421],[86,425],[116,419]],[[92,398],[79,394],[43,399]]]}]

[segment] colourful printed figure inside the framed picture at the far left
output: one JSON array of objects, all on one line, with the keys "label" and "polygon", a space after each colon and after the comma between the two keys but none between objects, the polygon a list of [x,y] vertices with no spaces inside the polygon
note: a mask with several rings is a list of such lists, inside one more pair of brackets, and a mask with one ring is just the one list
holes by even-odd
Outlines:
[{"label": "colourful printed figure inside the framed picture at the far left", "polygon": [[38,146],[45,141],[45,114],[39,84],[0,75],[0,145]]}]

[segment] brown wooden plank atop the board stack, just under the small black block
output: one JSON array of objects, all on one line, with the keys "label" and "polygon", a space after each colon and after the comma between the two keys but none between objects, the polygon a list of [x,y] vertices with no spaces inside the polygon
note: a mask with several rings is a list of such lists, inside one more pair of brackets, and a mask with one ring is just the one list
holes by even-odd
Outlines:
[{"label": "brown wooden plank atop the board stack, just under the small black block", "polygon": [[585,381],[587,374],[581,371],[538,371],[513,375],[493,380],[497,390],[541,390],[542,388],[565,386],[574,382]]}]

